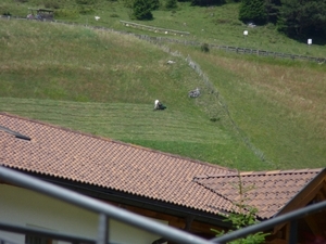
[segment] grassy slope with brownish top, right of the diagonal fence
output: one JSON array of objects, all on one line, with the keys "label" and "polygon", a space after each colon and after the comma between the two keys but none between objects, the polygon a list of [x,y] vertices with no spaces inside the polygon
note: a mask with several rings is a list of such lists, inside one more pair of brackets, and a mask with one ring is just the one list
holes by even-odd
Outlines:
[{"label": "grassy slope with brownish top, right of the diagonal fence", "polygon": [[324,65],[184,52],[211,77],[237,126],[267,159],[285,167],[325,167]]}]

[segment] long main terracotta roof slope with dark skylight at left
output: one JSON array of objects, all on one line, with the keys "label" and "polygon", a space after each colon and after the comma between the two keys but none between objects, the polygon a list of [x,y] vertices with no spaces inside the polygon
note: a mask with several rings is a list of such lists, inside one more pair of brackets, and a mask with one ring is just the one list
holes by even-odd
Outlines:
[{"label": "long main terracotta roof slope with dark skylight at left", "polygon": [[3,113],[0,126],[32,139],[0,130],[4,166],[208,213],[230,209],[229,201],[192,181],[196,175],[231,174],[230,169]]}]

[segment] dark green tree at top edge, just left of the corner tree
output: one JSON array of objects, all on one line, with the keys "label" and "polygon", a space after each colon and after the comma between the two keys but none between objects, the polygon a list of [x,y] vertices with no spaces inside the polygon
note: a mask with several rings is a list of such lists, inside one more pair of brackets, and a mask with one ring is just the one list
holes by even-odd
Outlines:
[{"label": "dark green tree at top edge, just left of the corner tree", "polygon": [[254,22],[265,24],[267,21],[266,1],[242,0],[239,10],[239,20],[242,22]]}]

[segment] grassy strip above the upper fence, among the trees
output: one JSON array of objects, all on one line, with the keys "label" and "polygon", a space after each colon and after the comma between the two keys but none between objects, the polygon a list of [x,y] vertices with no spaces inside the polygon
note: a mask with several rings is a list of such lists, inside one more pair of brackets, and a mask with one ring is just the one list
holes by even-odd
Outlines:
[{"label": "grassy strip above the upper fence, among the trees", "polygon": [[[190,35],[174,36],[163,34],[165,37],[177,38],[183,40],[197,40],[201,42],[243,47],[251,49],[260,49],[275,52],[293,53],[301,55],[313,55],[325,57],[325,41],[317,44],[317,40],[313,40],[312,47],[308,47],[306,40],[299,42],[284,36],[276,30],[273,24],[266,26],[248,27],[238,20],[239,3],[227,3],[220,7],[190,7],[189,2],[178,2],[178,9],[173,11],[160,10],[153,11],[153,21],[135,21],[130,20],[130,9],[125,8],[123,1],[105,1],[97,0],[96,4],[85,7],[93,10],[91,13],[79,13],[80,5],[75,0],[55,1],[55,4],[49,4],[53,1],[46,0],[26,0],[24,3],[17,3],[13,0],[2,0],[0,3],[1,11],[8,11],[13,15],[26,16],[28,8],[45,8],[47,5],[55,5],[57,12],[66,12],[66,15],[57,17],[59,21],[74,22],[83,25],[103,26],[123,31],[140,33],[150,36],[162,36],[147,29],[135,29],[126,27],[120,21],[135,22],[142,25],[154,27],[189,31]],[[164,5],[165,0],[161,0]],[[71,13],[71,14],[68,14]],[[95,20],[98,15],[101,18]],[[244,39],[243,30],[248,30],[249,35]]]}]

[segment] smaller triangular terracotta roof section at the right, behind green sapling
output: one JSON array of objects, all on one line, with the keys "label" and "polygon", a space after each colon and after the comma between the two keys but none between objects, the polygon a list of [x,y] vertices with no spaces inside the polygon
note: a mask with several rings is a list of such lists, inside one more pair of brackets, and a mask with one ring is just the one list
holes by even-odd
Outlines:
[{"label": "smaller triangular terracotta roof section at the right, behind green sapling", "polygon": [[229,200],[239,202],[239,180],[241,179],[246,204],[259,209],[262,219],[272,218],[296,194],[301,191],[322,169],[251,171],[231,175],[198,177],[200,185]]}]

